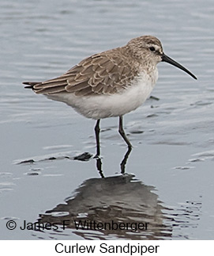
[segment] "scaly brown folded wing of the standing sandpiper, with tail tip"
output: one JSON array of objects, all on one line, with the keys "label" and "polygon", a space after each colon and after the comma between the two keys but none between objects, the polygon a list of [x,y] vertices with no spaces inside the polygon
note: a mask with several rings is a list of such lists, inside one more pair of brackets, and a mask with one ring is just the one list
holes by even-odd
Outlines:
[{"label": "scaly brown folded wing of the standing sandpiper, with tail tip", "polygon": [[119,51],[111,50],[83,59],[64,75],[31,84],[37,94],[115,94],[129,85],[137,71]]}]

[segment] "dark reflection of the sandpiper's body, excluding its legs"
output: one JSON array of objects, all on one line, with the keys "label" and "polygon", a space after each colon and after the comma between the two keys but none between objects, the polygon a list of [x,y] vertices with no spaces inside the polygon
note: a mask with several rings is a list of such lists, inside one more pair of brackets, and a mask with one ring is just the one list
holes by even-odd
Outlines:
[{"label": "dark reflection of the sandpiper's body, excluding its legs", "polygon": [[[64,226],[84,239],[166,239],[171,237],[171,227],[163,224],[164,207],[154,189],[131,174],[90,178],[79,186],[74,197],[66,199],[66,204],[41,214],[38,221],[58,224],[62,232]],[[77,228],[80,220],[86,226],[96,222],[107,228]]]}]

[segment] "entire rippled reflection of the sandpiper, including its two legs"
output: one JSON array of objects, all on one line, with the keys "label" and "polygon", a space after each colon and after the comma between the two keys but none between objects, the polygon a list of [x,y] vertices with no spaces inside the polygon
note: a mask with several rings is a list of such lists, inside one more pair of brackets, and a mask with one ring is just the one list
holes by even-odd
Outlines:
[{"label": "entire rippled reflection of the sandpiper, including its two legs", "polygon": [[[67,235],[69,230],[84,239],[172,239],[178,230],[177,237],[188,239],[181,229],[197,227],[201,204],[190,202],[177,210],[163,206],[155,187],[125,173],[129,155],[130,149],[121,162],[122,174],[107,178],[102,160],[96,158],[101,178],[84,181],[73,197],[40,214],[39,224],[57,227],[51,237]],[[84,157],[87,154],[77,159]]]}]

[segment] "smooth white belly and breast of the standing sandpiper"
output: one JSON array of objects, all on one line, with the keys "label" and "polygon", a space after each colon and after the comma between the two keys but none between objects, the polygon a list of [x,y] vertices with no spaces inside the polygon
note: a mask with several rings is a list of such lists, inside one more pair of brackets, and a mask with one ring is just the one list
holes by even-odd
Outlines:
[{"label": "smooth white belly and breast of the standing sandpiper", "polygon": [[140,75],[132,86],[120,94],[77,97],[74,94],[61,93],[46,95],[55,101],[63,101],[84,117],[102,119],[123,116],[137,109],[151,94],[157,80],[157,70],[151,76]]}]

